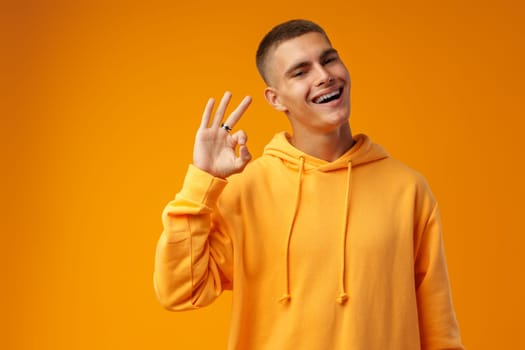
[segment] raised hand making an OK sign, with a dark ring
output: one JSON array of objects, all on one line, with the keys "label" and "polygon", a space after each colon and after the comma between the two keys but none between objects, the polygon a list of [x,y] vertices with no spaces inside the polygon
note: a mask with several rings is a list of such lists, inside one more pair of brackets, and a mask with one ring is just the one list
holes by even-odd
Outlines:
[{"label": "raised hand making an OK sign, with a dark ring", "polygon": [[[246,147],[248,139],[246,133],[239,130],[230,134],[221,127],[231,96],[229,92],[224,94],[211,123],[210,117],[215,101],[212,98],[208,100],[193,148],[193,165],[220,178],[241,172],[252,158]],[[223,123],[233,129],[251,101],[251,97],[246,96]],[[239,146],[238,155],[235,151],[237,146]]]}]

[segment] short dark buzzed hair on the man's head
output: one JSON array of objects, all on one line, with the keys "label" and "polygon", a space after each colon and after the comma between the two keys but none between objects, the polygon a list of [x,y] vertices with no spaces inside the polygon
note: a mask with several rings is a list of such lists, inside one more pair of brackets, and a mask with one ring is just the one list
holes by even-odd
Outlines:
[{"label": "short dark buzzed hair on the man's head", "polygon": [[328,35],[326,35],[326,32],[323,28],[312,21],[304,19],[293,19],[278,24],[264,36],[264,38],[259,43],[259,47],[257,48],[255,63],[257,64],[259,74],[261,74],[261,77],[266,84],[269,84],[268,75],[266,72],[266,61],[269,52],[286,40],[290,40],[311,32],[321,33],[330,43],[330,39],[328,39]]}]

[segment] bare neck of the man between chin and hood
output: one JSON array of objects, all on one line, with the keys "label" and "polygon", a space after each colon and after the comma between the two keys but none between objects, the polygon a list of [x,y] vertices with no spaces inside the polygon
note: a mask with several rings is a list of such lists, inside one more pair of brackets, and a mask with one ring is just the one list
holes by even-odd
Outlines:
[{"label": "bare neck of the man between chin and hood", "polygon": [[346,123],[329,133],[301,133],[294,130],[290,143],[306,154],[332,162],[345,154],[355,141],[350,124]]}]

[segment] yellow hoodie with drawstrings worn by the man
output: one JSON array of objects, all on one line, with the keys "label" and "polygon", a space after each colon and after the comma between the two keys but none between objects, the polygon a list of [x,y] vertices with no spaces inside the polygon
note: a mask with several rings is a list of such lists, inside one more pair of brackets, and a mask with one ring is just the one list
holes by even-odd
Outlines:
[{"label": "yellow hoodie with drawstrings worn by the man", "polygon": [[280,133],[228,181],[190,166],[163,213],[161,304],[232,289],[229,349],[463,349],[425,179],[354,139],[326,162]]}]

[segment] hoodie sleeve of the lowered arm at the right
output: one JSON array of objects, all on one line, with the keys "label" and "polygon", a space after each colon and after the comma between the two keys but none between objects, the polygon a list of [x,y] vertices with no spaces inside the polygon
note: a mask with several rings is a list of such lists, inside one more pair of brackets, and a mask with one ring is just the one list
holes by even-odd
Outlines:
[{"label": "hoodie sleeve of the lowered arm at the right", "polygon": [[463,350],[452,305],[439,208],[434,203],[416,237],[415,278],[421,348]]}]

